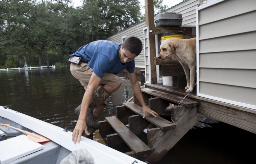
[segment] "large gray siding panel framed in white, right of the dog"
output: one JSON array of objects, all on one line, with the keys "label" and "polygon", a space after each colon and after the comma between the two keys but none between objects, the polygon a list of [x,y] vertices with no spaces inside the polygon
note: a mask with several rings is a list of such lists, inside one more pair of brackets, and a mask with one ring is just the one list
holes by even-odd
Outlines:
[{"label": "large gray siding panel framed in white, right of the dog", "polygon": [[199,94],[256,105],[256,1],[198,11]]}]

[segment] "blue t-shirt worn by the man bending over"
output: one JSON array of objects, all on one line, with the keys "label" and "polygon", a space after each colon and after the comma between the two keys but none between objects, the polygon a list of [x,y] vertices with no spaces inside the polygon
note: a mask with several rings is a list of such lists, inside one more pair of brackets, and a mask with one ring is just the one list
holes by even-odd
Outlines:
[{"label": "blue t-shirt worn by the man bending over", "polygon": [[129,73],[133,73],[135,68],[134,60],[125,64],[121,63],[119,58],[120,48],[121,44],[100,40],[80,47],[69,57],[77,56],[81,57],[83,62],[90,61],[88,66],[100,78],[103,77],[105,72],[118,74],[124,69]]}]

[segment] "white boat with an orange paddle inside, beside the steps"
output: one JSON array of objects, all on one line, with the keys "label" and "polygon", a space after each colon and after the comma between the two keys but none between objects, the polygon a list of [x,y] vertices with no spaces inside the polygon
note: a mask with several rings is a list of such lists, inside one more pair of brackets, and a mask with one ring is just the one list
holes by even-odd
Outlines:
[{"label": "white boat with an orange paddle inside, beside the steps", "polygon": [[[41,143],[43,147],[42,149],[40,148],[41,150],[31,148],[33,150],[30,150],[30,154],[26,154],[25,151],[28,151],[26,149],[29,149],[29,147],[22,146],[27,142],[24,141],[25,135],[19,132],[19,135],[21,136],[4,140],[6,138],[6,136],[4,136],[6,133],[4,132],[2,133],[2,136],[0,136],[0,148],[1,151],[5,152],[7,155],[4,156],[4,158],[2,157],[2,161],[0,156],[0,163],[2,162],[2,164],[59,164],[61,160],[68,156],[71,152],[83,148],[85,148],[92,155],[95,164],[131,164],[134,161],[138,162],[137,164],[144,163],[83,136],[80,143],[74,144],[72,142],[72,132],[65,132],[61,127],[8,108],[4,109],[3,106],[0,106],[0,124],[6,123],[23,130],[35,132],[50,139],[51,141]],[[8,128],[1,126],[1,129],[2,131],[6,131]],[[28,140],[30,143],[33,142],[27,139],[27,137],[25,140]],[[6,141],[8,141],[8,146],[1,147],[1,143],[6,143]],[[8,155],[10,155],[10,159],[7,157]]]}]

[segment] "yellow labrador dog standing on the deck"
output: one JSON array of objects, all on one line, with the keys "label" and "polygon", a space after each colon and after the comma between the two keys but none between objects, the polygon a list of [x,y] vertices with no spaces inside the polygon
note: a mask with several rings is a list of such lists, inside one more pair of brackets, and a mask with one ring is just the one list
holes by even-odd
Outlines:
[{"label": "yellow labrador dog standing on the deck", "polygon": [[161,44],[160,50],[159,60],[169,57],[181,63],[187,78],[186,93],[193,92],[196,76],[196,38],[166,39]]}]

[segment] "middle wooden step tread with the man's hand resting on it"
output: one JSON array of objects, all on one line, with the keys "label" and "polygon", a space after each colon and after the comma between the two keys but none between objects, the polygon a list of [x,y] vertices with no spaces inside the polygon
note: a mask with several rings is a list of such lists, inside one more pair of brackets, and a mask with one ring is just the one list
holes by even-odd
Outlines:
[{"label": "middle wooden step tread with the man's hand resting on it", "polygon": [[[142,107],[130,102],[130,103],[123,103],[124,106],[126,106],[127,108],[129,108],[131,111],[133,111],[134,113],[136,113],[139,116],[143,116],[143,111],[142,111]],[[154,117],[153,115],[146,113],[145,114],[145,119],[148,120],[149,122],[153,123],[154,125],[156,125],[157,127],[159,127],[162,130],[167,130],[167,129],[171,129],[171,128],[175,128],[176,124],[160,117],[160,116],[156,116]]]}]

